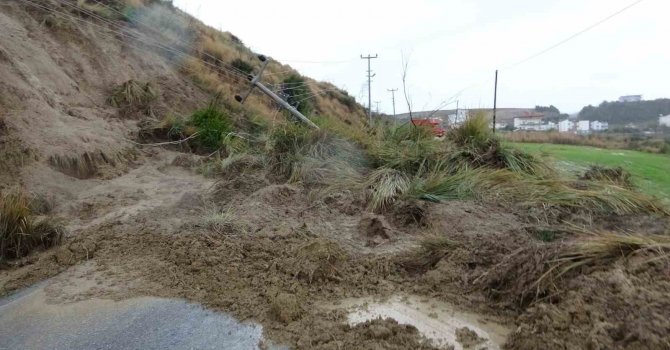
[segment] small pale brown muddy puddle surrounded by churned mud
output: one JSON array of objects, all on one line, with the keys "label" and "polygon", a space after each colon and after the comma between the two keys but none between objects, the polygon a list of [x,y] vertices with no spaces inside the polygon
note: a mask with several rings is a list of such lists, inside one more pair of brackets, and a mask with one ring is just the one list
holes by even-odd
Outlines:
[{"label": "small pale brown muddy puddle surrounded by churned mud", "polygon": [[453,345],[456,350],[501,349],[510,333],[507,326],[495,319],[416,296],[394,296],[385,300],[347,299],[331,307],[345,308],[351,325],[379,317],[392,318],[413,325],[435,345]]}]

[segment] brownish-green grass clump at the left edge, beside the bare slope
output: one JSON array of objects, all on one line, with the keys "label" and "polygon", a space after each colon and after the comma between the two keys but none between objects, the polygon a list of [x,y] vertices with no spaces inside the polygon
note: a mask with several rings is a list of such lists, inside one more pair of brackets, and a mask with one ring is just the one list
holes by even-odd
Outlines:
[{"label": "brownish-green grass clump at the left edge, beside the bare slope", "polygon": [[51,218],[35,219],[25,193],[0,195],[0,262],[51,248],[61,242],[63,232]]}]

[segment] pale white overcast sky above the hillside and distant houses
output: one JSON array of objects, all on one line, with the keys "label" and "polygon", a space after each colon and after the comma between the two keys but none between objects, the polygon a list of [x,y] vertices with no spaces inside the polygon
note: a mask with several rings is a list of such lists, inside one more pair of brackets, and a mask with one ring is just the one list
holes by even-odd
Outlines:
[{"label": "pale white overcast sky above the hillside and distant houses", "polygon": [[[205,23],[230,31],[255,52],[302,74],[345,88],[367,104],[366,61],[373,101],[391,113],[409,60],[414,110],[458,99],[491,107],[500,69],[499,107],[588,104],[642,94],[670,97],[670,1],[644,0],[544,55],[524,59],[633,3],[633,0],[175,0]],[[465,90],[463,90],[465,89]],[[398,113],[407,110],[397,96]],[[373,107],[375,106],[373,102]],[[454,108],[455,103],[447,108]]]}]

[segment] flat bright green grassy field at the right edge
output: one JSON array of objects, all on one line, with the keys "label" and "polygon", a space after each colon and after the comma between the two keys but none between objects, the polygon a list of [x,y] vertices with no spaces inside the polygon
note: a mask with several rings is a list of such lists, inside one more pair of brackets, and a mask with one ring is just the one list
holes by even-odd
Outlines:
[{"label": "flat bright green grassy field at the right edge", "polygon": [[554,160],[570,173],[583,172],[591,164],[621,166],[634,176],[642,191],[670,202],[670,156],[587,146],[514,143],[527,152]]}]

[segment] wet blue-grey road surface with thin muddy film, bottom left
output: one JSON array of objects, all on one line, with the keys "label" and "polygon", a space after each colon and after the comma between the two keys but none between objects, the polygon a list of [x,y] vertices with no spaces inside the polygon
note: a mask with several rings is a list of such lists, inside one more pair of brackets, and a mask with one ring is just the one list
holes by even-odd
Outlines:
[{"label": "wet blue-grey road surface with thin muddy film, bottom left", "polygon": [[[0,299],[0,349],[257,349],[263,329],[178,299]],[[275,348],[276,347],[269,347]]]}]

